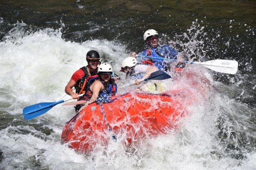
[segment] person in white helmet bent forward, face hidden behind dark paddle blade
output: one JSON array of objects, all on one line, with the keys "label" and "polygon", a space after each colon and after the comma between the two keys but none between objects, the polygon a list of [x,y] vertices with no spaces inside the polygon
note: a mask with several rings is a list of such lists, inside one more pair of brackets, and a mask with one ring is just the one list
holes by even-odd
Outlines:
[{"label": "person in white helmet bent forward, face hidden behind dark paddle blade", "polygon": [[[126,79],[135,80],[135,85],[140,84],[139,82],[144,81],[149,75],[159,70],[154,65],[146,65],[138,63],[134,57],[127,57],[122,61],[121,72],[126,73]],[[161,93],[165,90],[165,84],[160,81],[152,81],[146,83],[140,88],[144,92],[149,93]]]}]

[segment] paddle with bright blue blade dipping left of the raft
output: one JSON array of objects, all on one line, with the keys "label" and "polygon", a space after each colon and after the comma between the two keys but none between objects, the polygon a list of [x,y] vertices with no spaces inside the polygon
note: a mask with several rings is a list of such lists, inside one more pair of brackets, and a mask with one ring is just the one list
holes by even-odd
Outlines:
[{"label": "paddle with bright blue blade dipping left of the raft", "polygon": [[[82,96],[83,94],[80,94],[79,96]],[[57,102],[42,102],[37,103],[35,105],[24,107],[23,109],[23,115],[26,120],[33,119],[34,117],[40,116],[42,114],[45,114],[48,110],[52,109],[55,105],[58,105],[59,103],[66,102],[68,100],[72,100],[73,98],[69,98],[66,100],[60,100]]]}]

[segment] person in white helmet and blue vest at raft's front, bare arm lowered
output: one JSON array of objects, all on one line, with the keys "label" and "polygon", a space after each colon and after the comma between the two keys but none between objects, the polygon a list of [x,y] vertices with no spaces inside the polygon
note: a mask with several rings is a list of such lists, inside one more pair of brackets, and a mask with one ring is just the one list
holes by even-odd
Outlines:
[{"label": "person in white helmet and blue vest at raft's front, bare arm lowered", "polygon": [[[117,86],[115,80],[111,78],[113,68],[108,63],[102,63],[98,67],[98,76],[91,77],[85,85],[84,100],[88,101],[85,106],[96,102],[109,102],[110,96],[116,95]],[[80,109],[81,110],[81,109]]]}]

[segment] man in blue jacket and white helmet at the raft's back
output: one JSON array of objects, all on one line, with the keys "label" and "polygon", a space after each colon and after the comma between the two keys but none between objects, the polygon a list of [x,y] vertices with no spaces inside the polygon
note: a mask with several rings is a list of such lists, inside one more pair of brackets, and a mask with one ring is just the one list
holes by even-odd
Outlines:
[{"label": "man in blue jacket and white helmet at the raft's back", "polygon": [[176,67],[183,67],[181,63],[183,63],[184,59],[188,59],[187,54],[178,53],[174,48],[168,45],[159,45],[159,35],[156,30],[149,29],[145,31],[143,35],[144,42],[146,44],[146,48],[144,51],[136,54],[132,52],[131,57],[137,58],[141,63],[145,63],[148,65],[155,65],[159,70],[170,70],[170,63],[166,63],[160,59],[152,59],[147,57],[157,57],[157,58],[167,58],[167,59],[177,59],[178,65]]}]

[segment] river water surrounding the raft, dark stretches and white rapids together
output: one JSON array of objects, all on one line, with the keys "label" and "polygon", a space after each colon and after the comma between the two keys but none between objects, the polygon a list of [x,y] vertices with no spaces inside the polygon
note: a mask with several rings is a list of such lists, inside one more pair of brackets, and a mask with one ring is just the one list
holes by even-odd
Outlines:
[{"label": "river water surrounding the raft, dark stretches and white rapids together", "polygon": [[[73,107],[24,120],[24,107],[64,94],[89,50],[122,77],[121,61],[145,48],[149,28],[190,59],[238,61],[237,74],[187,65],[184,72],[194,70],[211,86],[204,97],[197,88],[199,102],[187,106],[179,128],[135,152],[122,142],[87,155],[61,144]],[[0,0],[0,169],[256,169],[255,29],[253,0]],[[170,88],[189,86],[180,76]]]}]

